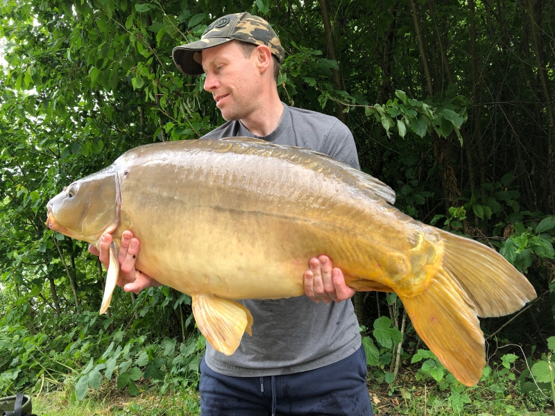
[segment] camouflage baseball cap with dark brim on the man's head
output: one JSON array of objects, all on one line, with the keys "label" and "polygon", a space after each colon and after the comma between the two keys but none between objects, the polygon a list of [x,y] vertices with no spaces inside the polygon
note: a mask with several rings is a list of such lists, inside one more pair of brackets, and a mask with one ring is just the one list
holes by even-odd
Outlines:
[{"label": "camouflage baseball cap with dark brim on the man's head", "polygon": [[262,17],[252,16],[248,12],[225,15],[212,21],[204,31],[203,37],[196,42],[176,46],[171,55],[177,67],[187,75],[204,73],[202,66],[203,49],[212,48],[241,40],[255,45],[266,45],[270,51],[282,62],[284,50],[280,38],[273,31],[272,26]]}]

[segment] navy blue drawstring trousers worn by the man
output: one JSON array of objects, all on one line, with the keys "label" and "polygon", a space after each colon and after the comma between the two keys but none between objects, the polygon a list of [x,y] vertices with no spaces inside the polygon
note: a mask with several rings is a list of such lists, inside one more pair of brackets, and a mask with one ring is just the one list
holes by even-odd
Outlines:
[{"label": "navy blue drawstring trousers worn by the man", "polygon": [[337,363],[282,376],[232,377],[200,361],[201,416],[373,416],[360,347]]}]

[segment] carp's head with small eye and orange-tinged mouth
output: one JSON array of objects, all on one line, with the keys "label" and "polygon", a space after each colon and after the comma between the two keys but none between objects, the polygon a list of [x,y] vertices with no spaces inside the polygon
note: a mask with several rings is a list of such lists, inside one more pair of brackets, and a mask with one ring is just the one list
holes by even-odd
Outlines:
[{"label": "carp's head with small eye and orange-tinged mouth", "polygon": [[77,180],[52,198],[46,225],[73,239],[96,243],[117,228],[119,180],[115,171],[100,171]]}]

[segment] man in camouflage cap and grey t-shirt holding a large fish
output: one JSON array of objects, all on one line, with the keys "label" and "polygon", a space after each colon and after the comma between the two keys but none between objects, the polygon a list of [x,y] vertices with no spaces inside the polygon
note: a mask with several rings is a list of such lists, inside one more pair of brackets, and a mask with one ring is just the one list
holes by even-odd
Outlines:
[{"label": "man in camouflage cap and grey t-shirt holding a large fish", "polygon": [[[280,101],[276,80],[283,58],[271,26],[246,12],[216,19],[201,40],[173,49],[180,71],[206,74],[204,88],[228,121],[203,139],[255,137],[359,168],[355,142],[338,119]],[[107,234],[101,243],[105,266],[111,241]],[[139,248],[125,232],[118,282],[125,291],[157,284],[135,270]],[[244,336],[232,356],[207,345],[200,362],[203,416],[373,415],[357,318],[352,303],[341,302],[354,292],[325,255],[309,260],[304,283],[306,296],[241,301],[253,314],[253,336]]]}]

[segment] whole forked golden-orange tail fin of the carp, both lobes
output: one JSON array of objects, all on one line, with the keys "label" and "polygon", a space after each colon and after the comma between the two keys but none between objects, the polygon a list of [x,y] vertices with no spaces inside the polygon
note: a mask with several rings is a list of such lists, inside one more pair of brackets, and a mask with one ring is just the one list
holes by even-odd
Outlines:
[{"label": "whole forked golden-orange tail fin of the carp, both lobes", "polygon": [[447,370],[476,384],[485,365],[478,316],[513,313],[536,297],[533,286],[501,254],[486,245],[438,230],[443,241],[422,291],[400,298],[414,329]]}]

